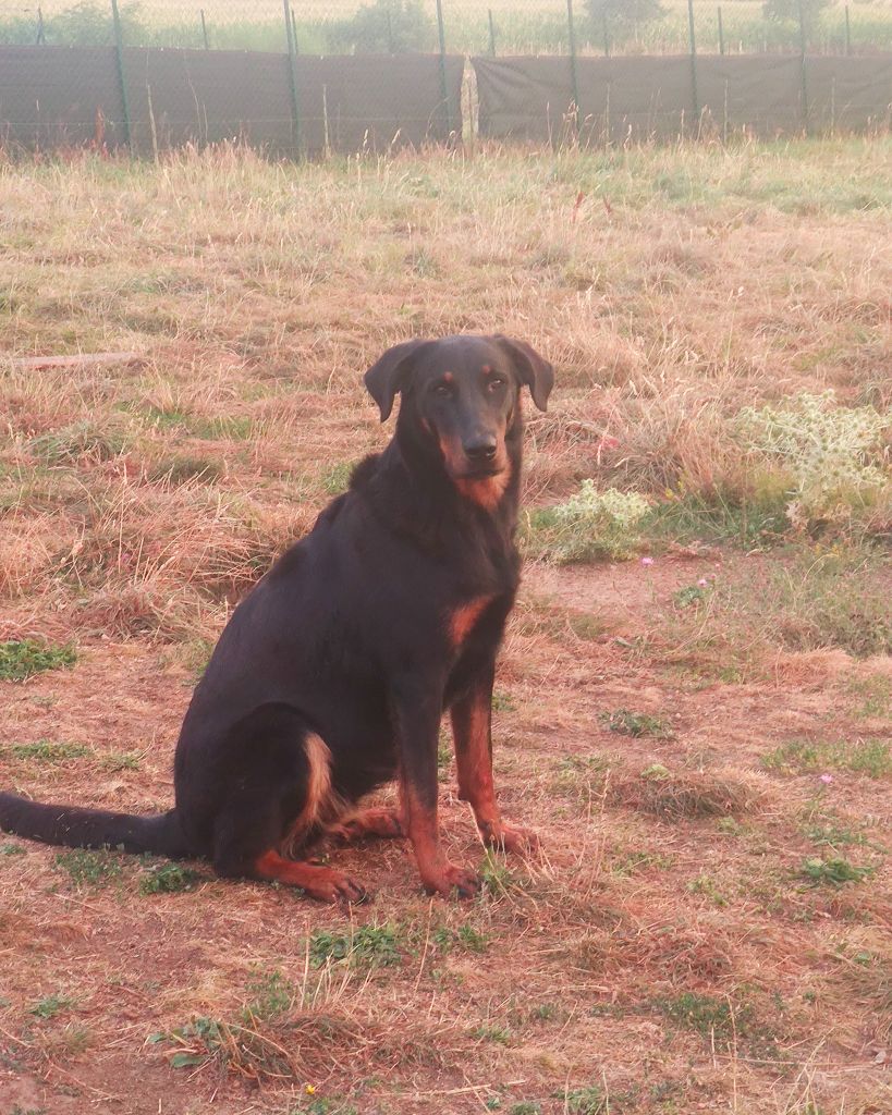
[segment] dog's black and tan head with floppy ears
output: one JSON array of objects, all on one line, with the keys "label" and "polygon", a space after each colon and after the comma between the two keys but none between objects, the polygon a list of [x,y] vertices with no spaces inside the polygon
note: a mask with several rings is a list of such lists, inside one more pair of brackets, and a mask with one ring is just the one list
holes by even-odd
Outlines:
[{"label": "dog's black and tan head with floppy ears", "polygon": [[[479,481],[508,468],[505,437],[521,388],[544,410],[554,369],[523,341],[445,337],[396,345],[366,372],[366,387],[385,421],[397,391],[403,413],[439,447],[453,481]],[[400,420],[404,419],[403,417]]]}]

